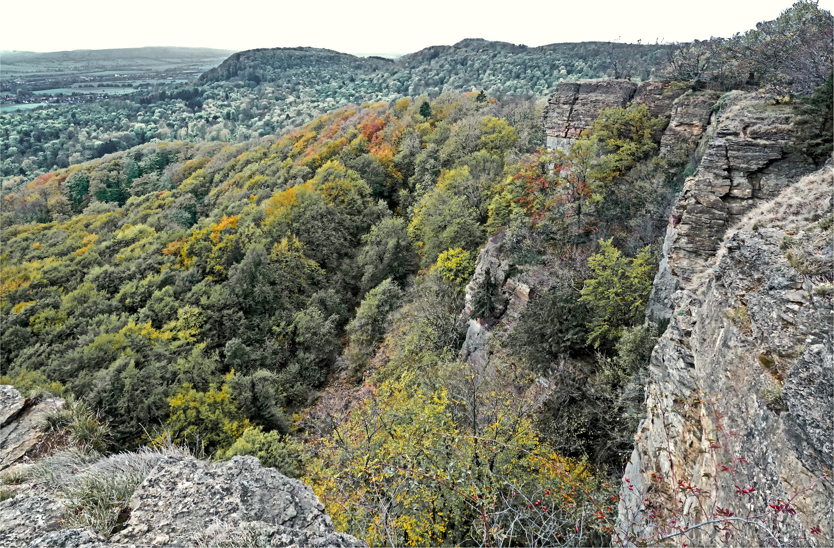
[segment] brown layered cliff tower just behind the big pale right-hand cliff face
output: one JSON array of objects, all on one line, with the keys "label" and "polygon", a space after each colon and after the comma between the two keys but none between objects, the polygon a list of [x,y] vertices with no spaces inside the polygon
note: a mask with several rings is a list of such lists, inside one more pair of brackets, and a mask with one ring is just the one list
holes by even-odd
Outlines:
[{"label": "brown layered cliff tower just behind the big pale right-hand cliff face", "polygon": [[788,152],[798,131],[791,126],[793,113],[747,97],[729,94],[701,165],[672,209],[668,269],[684,283],[706,271],[726,230],[742,215],[816,169]]}]

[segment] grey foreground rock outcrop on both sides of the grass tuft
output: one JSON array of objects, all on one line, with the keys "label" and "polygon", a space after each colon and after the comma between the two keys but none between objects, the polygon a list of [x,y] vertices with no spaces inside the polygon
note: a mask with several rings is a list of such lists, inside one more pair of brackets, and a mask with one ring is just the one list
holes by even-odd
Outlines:
[{"label": "grey foreground rock outcrop on both sides of the grass tuft", "polygon": [[63,530],[68,509],[60,493],[28,480],[0,502],[0,545],[186,546],[193,535],[222,522],[255,528],[272,546],[364,546],[334,530],[309,485],[263,468],[253,456],[217,464],[153,456],[157,464],[133,492],[123,529],[110,538],[83,528]]}]

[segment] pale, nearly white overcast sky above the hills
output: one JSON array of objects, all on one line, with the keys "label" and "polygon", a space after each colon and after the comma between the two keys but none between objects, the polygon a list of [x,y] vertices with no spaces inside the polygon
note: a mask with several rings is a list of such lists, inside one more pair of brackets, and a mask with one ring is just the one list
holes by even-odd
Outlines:
[{"label": "pale, nearly white overcast sky above the hills", "polygon": [[[540,46],[728,37],[776,18],[791,0],[510,0],[349,3],[333,0],[118,3],[4,2],[0,49],[193,46],[243,50],[314,46],[357,54],[412,53],[486,38]],[[831,9],[834,0],[822,0]]]}]

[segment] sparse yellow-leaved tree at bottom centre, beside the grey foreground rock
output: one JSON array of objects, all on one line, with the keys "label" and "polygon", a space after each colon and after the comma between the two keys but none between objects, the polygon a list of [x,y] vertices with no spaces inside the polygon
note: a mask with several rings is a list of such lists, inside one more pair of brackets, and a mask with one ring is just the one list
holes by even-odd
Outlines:
[{"label": "sparse yellow-leaved tree at bottom centre, beside the grey foreground rock", "polygon": [[594,498],[605,489],[540,443],[515,402],[491,401],[473,431],[446,389],[386,381],[320,440],[304,480],[369,545],[576,545],[610,514]]}]

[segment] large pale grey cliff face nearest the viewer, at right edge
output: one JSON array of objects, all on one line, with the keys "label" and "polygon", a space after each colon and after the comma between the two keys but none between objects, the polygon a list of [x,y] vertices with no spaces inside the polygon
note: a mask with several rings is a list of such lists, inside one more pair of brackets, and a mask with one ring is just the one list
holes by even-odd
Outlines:
[{"label": "large pale grey cliff face nearest the viewer, at right edge", "polygon": [[[726,138],[719,139],[716,147],[727,149]],[[776,156],[775,146],[757,146],[756,158]],[[753,163],[761,162],[747,165]],[[756,179],[766,181],[756,191],[783,184],[772,173],[790,177],[795,165]],[[706,174],[696,179],[706,184]],[[730,176],[721,180],[740,189]],[[815,481],[834,462],[834,250],[830,226],[809,223],[831,215],[832,184],[829,165],[721,233],[726,241],[716,234],[717,264],[709,276],[681,283],[671,295],[671,323],[651,356],[648,415],[625,470],[621,522],[648,522],[651,488],[666,510],[679,510],[681,523],[697,523],[694,497],[675,489],[683,481],[704,489],[710,505],[764,515],[766,529],[740,525],[732,545],[773,545],[776,518],[779,542],[834,542],[831,481]],[[823,274],[809,274],[796,249],[805,249]],[[740,493],[736,486],[754,489]],[[788,500],[802,511],[776,515],[770,504]],[[812,534],[813,527],[821,533]],[[715,535],[711,528],[692,531],[691,544],[716,545]]]}]

